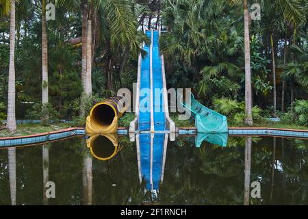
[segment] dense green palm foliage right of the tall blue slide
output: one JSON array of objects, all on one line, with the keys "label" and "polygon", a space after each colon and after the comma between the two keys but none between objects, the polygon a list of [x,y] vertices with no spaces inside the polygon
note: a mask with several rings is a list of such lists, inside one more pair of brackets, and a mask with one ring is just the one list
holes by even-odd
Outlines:
[{"label": "dense green palm foliage right of the tall blue slide", "polygon": [[[207,105],[224,97],[244,101],[242,8],[226,1],[163,2],[168,33],[161,42],[169,85],[194,88]],[[277,105],[285,110],[281,109],[283,80],[285,105],[294,101],[292,92],[295,98],[307,99],[307,2],[259,2],[261,21],[251,21],[250,27],[253,103],[264,110],[273,104],[270,34],[274,34]]]}]

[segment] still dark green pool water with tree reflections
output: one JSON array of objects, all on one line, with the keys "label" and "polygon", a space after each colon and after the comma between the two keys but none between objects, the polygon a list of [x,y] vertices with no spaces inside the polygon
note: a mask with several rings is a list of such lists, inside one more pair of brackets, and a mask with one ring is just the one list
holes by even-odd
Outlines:
[{"label": "still dark green pool water with tree reflections", "polygon": [[[136,143],[118,141],[107,161],[83,138],[0,149],[0,205],[308,205],[308,140],[229,137],[225,147],[197,148],[194,138],[177,138],[156,196],[140,183]],[[55,198],[45,196],[47,181]]]}]

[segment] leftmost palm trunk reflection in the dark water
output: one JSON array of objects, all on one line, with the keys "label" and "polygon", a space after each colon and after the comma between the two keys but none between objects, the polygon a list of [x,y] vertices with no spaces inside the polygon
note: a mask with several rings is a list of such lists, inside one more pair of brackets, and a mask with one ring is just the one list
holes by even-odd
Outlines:
[{"label": "leftmost palm trunk reflection in the dark water", "polygon": [[16,205],[16,148],[8,149],[11,203]]}]

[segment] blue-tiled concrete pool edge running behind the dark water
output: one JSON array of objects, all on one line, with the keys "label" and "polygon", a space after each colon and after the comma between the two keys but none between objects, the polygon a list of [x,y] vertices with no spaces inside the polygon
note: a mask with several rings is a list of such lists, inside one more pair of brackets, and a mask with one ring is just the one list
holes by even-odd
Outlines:
[{"label": "blue-tiled concrete pool edge running behind the dark water", "polygon": [[[75,136],[84,136],[85,134],[86,131],[84,128],[67,128],[60,129],[58,131],[36,133],[29,136],[4,137],[0,138],[0,148],[29,144],[42,144],[44,142],[54,142]],[[126,136],[127,134],[128,130],[126,128],[118,128],[118,135]],[[178,136],[196,136],[197,134],[198,133],[195,127],[177,128]],[[229,128],[229,136],[308,138],[308,130],[264,127],[231,127]]]}]

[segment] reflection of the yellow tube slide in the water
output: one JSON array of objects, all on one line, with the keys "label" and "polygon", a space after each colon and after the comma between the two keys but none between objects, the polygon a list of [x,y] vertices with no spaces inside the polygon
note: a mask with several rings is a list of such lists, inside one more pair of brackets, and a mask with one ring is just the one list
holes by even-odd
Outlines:
[{"label": "reflection of the yellow tube slide in the water", "polygon": [[114,134],[90,136],[87,140],[87,147],[93,157],[102,161],[112,159],[120,151],[118,136]]}]

